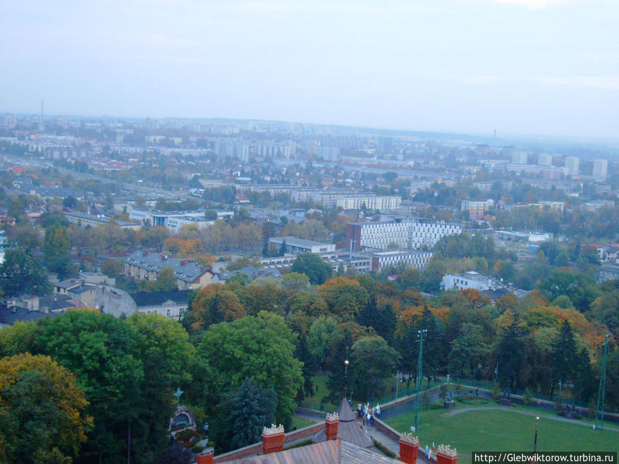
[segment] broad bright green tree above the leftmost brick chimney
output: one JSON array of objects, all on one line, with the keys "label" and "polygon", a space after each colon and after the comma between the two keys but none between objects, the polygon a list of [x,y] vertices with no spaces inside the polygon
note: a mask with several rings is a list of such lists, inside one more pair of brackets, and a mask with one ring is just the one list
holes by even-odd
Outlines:
[{"label": "broad bright green tree above the leftmost brick chimney", "polygon": [[296,335],[281,316],[261,311],[257,316],[209,327],[198,353],[214,373],[213,391],[225,393],[249,377],[276,391],[275,420],[287,423],[303,386],[302,364],[294,357],[295,342]]}]

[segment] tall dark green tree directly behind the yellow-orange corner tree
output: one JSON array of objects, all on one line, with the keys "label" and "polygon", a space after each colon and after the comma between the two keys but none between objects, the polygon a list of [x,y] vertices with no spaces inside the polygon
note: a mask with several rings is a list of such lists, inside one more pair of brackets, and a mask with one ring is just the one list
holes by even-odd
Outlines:
[{"label": "tall dark green tree directly behind the yellow-orange corner tree", "polygon": [[[94,418],[78,462],[120,463],[127,456],[128,419],[139,421],[144,400],[136,334],[126,321],[92,309],[69,310],[36,326],[28,351],[50,355],[72,371]],[[132,441],[133,446],[140,443]]]}]

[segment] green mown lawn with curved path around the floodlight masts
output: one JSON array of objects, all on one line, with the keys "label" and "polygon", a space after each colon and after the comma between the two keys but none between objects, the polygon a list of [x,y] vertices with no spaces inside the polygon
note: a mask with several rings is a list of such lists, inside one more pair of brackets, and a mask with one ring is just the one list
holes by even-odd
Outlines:
[{"label": "green mown lawn with curved path around the floodlight masts", "polygon": [[[486,410],[468,410],[469,408]],[[450,412],[461,410],[455,415]],[[532,410],[532,408],[526,408]],[[550,411],[538,410],[540,415]],[[559,419],[557,416],[556,419]],[[563,422],[541,417],[537,450],[539,451],[618,451],[619,432],[592,430],[578,423]],[[387,419],[389,426],[400,432],[409,432],[414,412]],[[608,426],[618,427],[608,423]],[[424,408],[417,434],[420,448],[440,443],[457,448],[458,463],[469,464],[472,451],[532,451],[535,417],[525,415],[517,408],[501,410],[490,401],[485,405],[459,404],[455,409]]]}]

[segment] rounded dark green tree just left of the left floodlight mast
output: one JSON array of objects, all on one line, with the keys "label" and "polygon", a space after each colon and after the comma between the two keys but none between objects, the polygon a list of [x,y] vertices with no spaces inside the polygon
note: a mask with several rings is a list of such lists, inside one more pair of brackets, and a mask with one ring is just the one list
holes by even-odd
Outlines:
[{"label": "rounded dark green tree just left of the left floodlight mast", "polygon": [[380,381],[391,375],[400,355],[378,335],[362,337],[352,346],[351,369],[355,390],[371,401],[378,393]]}]

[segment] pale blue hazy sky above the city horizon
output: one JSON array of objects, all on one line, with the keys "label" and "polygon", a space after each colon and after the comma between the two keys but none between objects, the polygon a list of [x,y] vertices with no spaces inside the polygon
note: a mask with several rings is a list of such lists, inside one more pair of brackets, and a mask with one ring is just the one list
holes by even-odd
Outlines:
[{"label": "pale blue hazy sky above the city horizon", "polygon": [[0,113],[619,137],[619,0],[0,1]]}]

